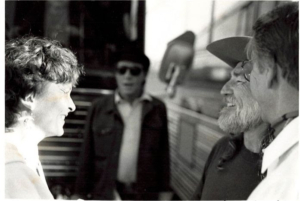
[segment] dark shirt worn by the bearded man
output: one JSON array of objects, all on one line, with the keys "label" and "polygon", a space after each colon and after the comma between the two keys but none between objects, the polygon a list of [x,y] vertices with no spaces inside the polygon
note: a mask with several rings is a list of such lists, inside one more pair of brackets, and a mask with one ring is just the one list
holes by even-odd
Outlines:
[{"label": "dark shirt worn by the bearded man", "polygon": [[[229,148],[232,144],[236,146],[233,158],[219,168],[224,153],[233,151]],[[221,138],[208,156],[202,178],[191,200],[246,200],[260,182],[258,161],[259,154],[245,147],[243,134]]]}]

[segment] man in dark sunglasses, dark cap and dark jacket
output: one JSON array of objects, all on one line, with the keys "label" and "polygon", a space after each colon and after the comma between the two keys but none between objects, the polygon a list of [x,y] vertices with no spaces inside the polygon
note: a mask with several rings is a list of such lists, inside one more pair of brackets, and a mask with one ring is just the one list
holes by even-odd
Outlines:
[{"label": "man in dark sunglasses, dark cap and dark jacket", "polygon": [[91,199],[157,200],[169,195],[169,140],[163,102],[144,91],[149,59],[116,57],[117,89],[91,106],[77,193]]}]

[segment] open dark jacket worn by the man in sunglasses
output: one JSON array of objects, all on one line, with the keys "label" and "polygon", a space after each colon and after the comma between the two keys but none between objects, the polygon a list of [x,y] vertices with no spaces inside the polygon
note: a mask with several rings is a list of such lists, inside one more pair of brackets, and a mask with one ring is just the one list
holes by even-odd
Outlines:
[{"label": "open dark jacket worn by the man in sunglasses", "polygon": [[[152,97],[143,101],[138,153],[139,192],[169,190],[169,141],[164,103]],[[114,95],[97,99],[90,107],[75,193],[92,199],[113,199],[117,179],[123,121]]]}]

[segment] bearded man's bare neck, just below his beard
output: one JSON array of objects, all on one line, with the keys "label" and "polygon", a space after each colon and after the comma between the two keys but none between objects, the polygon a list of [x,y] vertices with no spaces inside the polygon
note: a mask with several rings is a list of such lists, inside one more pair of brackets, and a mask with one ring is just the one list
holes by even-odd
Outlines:
[{"label": "bearded man's bare neck, just below his beard", "polygon": [[259,153],[260,152],[260,146],[261,141],[263,137],[267,134],[268,124],[261,123],[259,126],[245,131],[244,132],[244,145],[245,147],[253,152],[253,153]]}]

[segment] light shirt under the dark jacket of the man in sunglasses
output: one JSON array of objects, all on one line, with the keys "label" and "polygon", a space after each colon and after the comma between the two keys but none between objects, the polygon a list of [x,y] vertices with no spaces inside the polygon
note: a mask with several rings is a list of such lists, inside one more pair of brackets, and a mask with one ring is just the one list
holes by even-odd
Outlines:
[{"label": "light shirt under the dark jacket of the man in sunglasses", "polygon": [[118,93],[115,94],[115,103],[124,122],[117,176],[120,182],[134,183],[136,181],[143,101],[151,100],[151,96],[144,93],[131,104],[123,100]]}]

